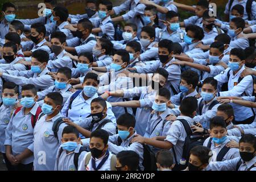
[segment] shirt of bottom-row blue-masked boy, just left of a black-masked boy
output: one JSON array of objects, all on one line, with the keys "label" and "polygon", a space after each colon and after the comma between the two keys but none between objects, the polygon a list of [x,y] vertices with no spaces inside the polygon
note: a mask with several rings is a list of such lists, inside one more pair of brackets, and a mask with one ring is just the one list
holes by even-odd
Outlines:
[{"label": "shirt of bottom-row blue-masked boy, just left of a black-masked boy", "polygon": [[[77,171],[74,164],[74,157],[76,153],[79,153],[81,147],[81,144],[79,144],[74,151],[69,152],[68,154],[66,150],[63,150],[60,154],[61,147],[59,147],[57,151],[57,158],[55,162],[54,171]],[[81,152],[81,154],[79,155],[78,164],[82,162],[82,159],[86,154],[86,151]]]}]

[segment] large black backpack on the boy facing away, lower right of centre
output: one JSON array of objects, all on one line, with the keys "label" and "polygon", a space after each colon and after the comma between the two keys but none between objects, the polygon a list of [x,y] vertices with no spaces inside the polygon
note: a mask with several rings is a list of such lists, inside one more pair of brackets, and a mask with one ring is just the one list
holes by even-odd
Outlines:
[{"label": "large black backpack on the boy facing away, lower right of centre", "polygon": [[175,167],[174,167],[174,171],[184,170],[188,166],[189,152],[191,151],[191,148],[193,148],[195,146],[203,146],[204,140],[205,140],[203,138],[203,136],[202,136],[202,138],[192,138],[193,133],[192,133],[191,127],[189,126],[188,122],[185,119],[179,119],[179,121],[182,123],[182,125],[187,133],[187,137],[185,138],[182,157],[181,157],[181,159],[185,159],[186,162],[185,162],[185,164],[180,164],[179,162],[177,162],[176,152],[175,152],[174,148],[172,148],[172,151],[174,152],[175,163],[176,163]]}]

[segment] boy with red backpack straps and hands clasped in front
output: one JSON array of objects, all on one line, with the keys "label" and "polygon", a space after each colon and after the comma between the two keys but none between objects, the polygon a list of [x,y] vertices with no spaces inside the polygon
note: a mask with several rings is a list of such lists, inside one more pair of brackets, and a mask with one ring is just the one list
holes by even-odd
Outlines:
[{"label": "boy with red backpack straps and hands clasped in front", "polygon": [[36,103],[38,96],[32,84],[22,87],[22,107],[14,111],[6,128],[6,158],[11,164],[11,171],[32,171],[34,152],[34,127],[42,111]]}]

